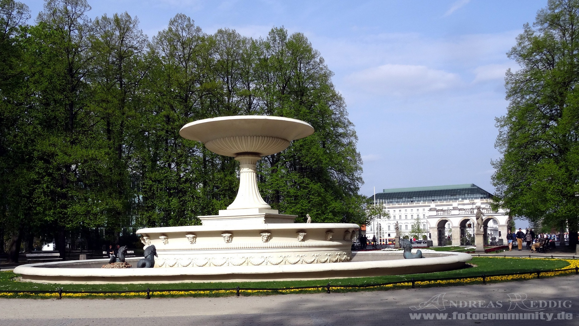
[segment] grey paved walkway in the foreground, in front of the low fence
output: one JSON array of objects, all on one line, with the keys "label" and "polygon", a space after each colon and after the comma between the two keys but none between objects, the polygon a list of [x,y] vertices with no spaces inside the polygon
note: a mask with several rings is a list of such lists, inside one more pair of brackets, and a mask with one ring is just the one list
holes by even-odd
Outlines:
[{"label": "grey paved walkway in the foreground, in front of the low fence", "polygon": [[[346,294],[150,300],[0,299],[0,325],[579,325],[578,290],[579,276],[570,275]],[[539,320],[488,320],[515,316],[536,316]]]}]

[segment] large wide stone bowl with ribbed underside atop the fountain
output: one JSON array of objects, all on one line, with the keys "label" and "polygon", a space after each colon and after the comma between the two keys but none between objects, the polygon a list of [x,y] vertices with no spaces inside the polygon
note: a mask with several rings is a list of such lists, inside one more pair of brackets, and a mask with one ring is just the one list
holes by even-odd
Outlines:
[{"label": "large wide stone bowl with ribbed underside atop the fountain", "polygon": [[181,137],[203,142],[211,152],[225,156],[256,153],[260,156],[283,151],[290,141],[314,133],[310,124],[280,116],[223,116],[185,124]]}]

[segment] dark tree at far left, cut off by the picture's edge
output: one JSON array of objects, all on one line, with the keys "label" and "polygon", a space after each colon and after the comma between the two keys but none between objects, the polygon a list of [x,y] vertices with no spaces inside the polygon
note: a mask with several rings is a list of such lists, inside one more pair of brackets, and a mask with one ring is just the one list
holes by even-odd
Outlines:
[{"label": "dark tree at far left, cut off by the picture's edge", "polygon": [[34,140],[25,123],[25,65],[28,7],[0,0],[0,251],[8,236],[8,262],[18,262],[25,233],[32,222],[34,169],[28,157]]}]

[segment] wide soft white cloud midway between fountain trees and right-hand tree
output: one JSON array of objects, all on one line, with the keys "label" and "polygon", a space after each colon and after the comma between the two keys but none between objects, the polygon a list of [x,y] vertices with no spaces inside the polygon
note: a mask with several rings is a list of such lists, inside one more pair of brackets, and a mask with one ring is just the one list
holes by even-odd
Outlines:
[{"label": "wide soft white cloud midway between fountain trees and right-hand tree", "polygon": [[346,83],[376,95],[405,96],[450,89],[460,84],[460,78],[424,65],[385,64],[354,72]]}]

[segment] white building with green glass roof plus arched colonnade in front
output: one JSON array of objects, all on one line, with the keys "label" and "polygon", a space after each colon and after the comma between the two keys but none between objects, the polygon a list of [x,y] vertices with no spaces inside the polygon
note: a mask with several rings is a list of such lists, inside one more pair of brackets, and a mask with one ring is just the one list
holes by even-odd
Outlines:
[{"label": "white building with green glass roof plus arched colonnade in front", "polygon": [[474,184],[384,189],[371,199],[385,205],[389,217],[369,221],[366,236],[387,244],[398,222],[401,235],[413,235],[420,226],[433,246],[468,246],[474,244],[475,214],[481,208],[485,244],[506,244],[510,217],[503,210],[492,210],[492,197]]}]

